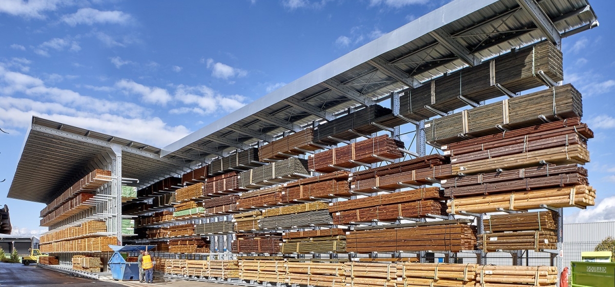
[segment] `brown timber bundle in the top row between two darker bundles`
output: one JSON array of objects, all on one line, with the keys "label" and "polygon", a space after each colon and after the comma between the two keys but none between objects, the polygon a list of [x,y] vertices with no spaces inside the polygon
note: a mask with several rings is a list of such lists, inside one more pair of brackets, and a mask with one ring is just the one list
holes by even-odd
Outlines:
[{"label": "brown timber bundle in the top row between two darker bundles", "polygon": [[258,148],[258,158],[261,162],[288,159],[292,155],[305,154],[306,151],[316,151],[321,147],[314,145],[314,130],[306,128],[301,132],[284,136]]}]

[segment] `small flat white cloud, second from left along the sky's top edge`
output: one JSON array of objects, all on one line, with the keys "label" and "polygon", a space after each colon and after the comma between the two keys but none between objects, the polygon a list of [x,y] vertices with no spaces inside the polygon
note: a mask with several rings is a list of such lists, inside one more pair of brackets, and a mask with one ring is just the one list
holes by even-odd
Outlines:
[{"label": "small flat white cloud, second from left along the sky's top edge", "polygon": [[76,26],[79,24],[127,24],[132,17],[122,11],[101,11],[93,8],[81,8],[76,13],[64,15],[62,21],[68,25]]}]

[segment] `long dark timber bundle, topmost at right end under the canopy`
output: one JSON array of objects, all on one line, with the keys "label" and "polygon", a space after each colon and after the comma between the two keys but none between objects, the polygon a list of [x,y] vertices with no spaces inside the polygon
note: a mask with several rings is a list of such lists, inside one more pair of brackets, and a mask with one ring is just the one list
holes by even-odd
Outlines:
[{"label": "long dark timber bundle, topmost at right end under the canopy", "polygon": [[[460,94],[476,102],[497,98],[502,92],[494,84],[501,84],[513,93],[542,87],[544,84],[535,77],[539,70],[556,82],[563,80],[562,56],[555,45],[541,42],[425,82],[410,93],[403,93],[400,114],[424,120],[434,116],[426,105],[440,111],[463,108],[467,104],[457,98]],[[490,71],[494,71],[493,75]],[[392,115],[377,121],[389,127],[405,123]]]}]

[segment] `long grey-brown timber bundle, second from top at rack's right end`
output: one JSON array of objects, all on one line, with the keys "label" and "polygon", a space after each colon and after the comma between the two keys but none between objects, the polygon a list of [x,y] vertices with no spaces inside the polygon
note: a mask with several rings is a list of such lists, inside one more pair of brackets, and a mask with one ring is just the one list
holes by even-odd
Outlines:
[{"label": "long grey-brown timber bundle, second from top at rack's right end", "polygon": [[[430,120],[425,124],[425,133],[432,143],[450,144],[463,141],[459,135],[500,133],[496,125],[508,129],[537,125],[542,122],[541,115],[549,120],[581,117],[582,109],[581,93],[566,84]],[[475,122],[483,122],[482,127],[470,130]]]}]

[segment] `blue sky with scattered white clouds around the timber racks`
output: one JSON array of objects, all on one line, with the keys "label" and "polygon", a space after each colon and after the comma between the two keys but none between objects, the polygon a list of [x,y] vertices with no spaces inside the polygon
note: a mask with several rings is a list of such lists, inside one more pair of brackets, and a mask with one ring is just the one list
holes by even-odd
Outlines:
[{"label": "blue sky with scattered white clouds around the timber racks", "polygon": [[[446,2],[1,0],[0,205],[15,234],[44,229],[42,204],[6,198],[33,115],[163,147]],[[614,2],[563,40],[600,202],[568,222],[615,219]]]}]

